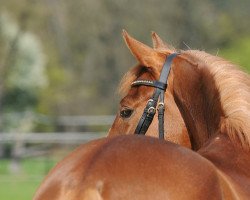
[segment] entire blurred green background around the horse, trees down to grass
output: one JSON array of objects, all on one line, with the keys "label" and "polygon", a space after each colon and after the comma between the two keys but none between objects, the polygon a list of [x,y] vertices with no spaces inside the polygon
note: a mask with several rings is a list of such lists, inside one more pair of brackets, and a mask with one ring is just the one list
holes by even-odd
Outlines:
[{"label": "entire blurred green background around the horse, trees down to grass", "polygon": [[249,9],[249,0],[0,0],[0,199],[31,199],[79,143],[20,143],[18,134],[107,132],[119,80],[136,63],[122,29],[148,45],[156,31],[249,71]]}]

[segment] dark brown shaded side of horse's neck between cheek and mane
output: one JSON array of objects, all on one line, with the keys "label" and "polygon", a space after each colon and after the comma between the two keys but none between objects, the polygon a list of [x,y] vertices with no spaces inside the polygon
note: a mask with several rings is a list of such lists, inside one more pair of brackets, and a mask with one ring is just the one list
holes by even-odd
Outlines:
[{"label": "dark brown shaded side of horse's neck between cheek and mane", "polygon": [[215,134],[223,116],[219,94],[205,69],[180,61],[173,68],[173,92],[187,126],[192,148],[198,150]]}]

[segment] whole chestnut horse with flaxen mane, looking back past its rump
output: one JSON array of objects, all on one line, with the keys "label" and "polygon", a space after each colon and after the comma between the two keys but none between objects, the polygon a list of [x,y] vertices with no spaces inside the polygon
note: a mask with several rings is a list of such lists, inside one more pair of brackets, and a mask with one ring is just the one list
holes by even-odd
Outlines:
[{"label": "whole chestnut horse with flaxen mane, looking back past its rump", "polygon": [[[133,134],[152,88],[175,50],[153,33],[154,49],[124,38],[139,65],[121,83],[110,136],[82,145],[45,178],[34,199],[249,199],[250,79],[219,57],[183,51],[165,93],[165,139]],[[146,135],[156,136],[157,119]],[[175,135],[176,132],[176,135]],[[191,147],[188,148],[182,147]]]}]

